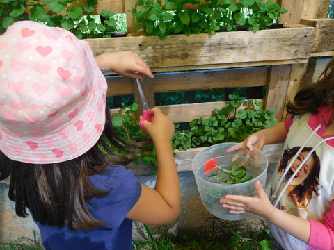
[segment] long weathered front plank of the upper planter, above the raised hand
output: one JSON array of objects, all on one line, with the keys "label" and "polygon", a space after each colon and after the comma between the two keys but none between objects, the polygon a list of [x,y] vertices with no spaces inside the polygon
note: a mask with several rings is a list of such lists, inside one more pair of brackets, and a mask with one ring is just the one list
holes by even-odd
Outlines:
[{"label": "long weathered front plank of the upper planter, above the raised hand", "polygon": [[264,31],[221,32],[214,35],[170,35],[86,40],[95,55],[116,51],[133,51],[154,67],[286,63],[310,56],[315,28],[283,28]]}]

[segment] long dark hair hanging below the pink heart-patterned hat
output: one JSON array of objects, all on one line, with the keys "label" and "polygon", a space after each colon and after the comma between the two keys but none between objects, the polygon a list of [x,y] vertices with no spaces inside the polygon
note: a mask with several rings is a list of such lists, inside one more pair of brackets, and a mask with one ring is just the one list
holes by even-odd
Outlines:
[{"label": "long dark hair hanging below the pink heart-patterned hat", "polygon": [[[128,152],[120,156],[100,137],[94,147],[84,155],[63,163],[31,164],[11,160],[0,151],[0,180],[10,175],[8,197],[15,202],[18,216],[28,215],[29,208],[35,221],[48,226],[71,230],[90,230],[104,225],[90,214],[86,203],[92,197],[104,197],[108,192],[98,190],[90,183],[89,176],[105,174],[108,165],[125,165],[134,153],[148,151],[143,148],[152,141],[127,142],[114,130],[111,115],[106,106],[105,139],[113,147]],[[103,147],[106,153],[102,153]]]}]

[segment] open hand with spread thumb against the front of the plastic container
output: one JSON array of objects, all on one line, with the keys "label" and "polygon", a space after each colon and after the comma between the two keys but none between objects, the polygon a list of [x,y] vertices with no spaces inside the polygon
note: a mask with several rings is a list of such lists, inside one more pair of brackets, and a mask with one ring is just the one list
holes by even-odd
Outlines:
[{"label": "open hand with spread thumb against the front of the plastic container", "polygon": [[224,208],[230,208],[230,213],[232,214],[238,215],[250,212],[267,219],[270,215],[273,215],[273,210],[276,208],[269,201],[260,181],[255,182],[255,189],[257,191],[257,196],[255,197],[226,195],[225,199],[220,199],[219,201],[223,203]]}]

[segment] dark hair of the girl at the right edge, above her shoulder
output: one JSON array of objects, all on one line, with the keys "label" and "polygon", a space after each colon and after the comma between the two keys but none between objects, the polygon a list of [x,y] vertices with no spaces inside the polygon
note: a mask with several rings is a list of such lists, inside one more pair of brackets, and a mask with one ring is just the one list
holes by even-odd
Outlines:
[{"label": "dark hair of the girl at the right edge, above her shoulder", "polygon": [[[292,115],[303,115],[305,113],[318,113],[318,108],[328,106],[331,110],[334,107],[334,58],[326,65],[317,83],[306,86],[299,90],[294,101],[287,102],[287,112]],[[326,126],[333,123],[331,117]]]}]

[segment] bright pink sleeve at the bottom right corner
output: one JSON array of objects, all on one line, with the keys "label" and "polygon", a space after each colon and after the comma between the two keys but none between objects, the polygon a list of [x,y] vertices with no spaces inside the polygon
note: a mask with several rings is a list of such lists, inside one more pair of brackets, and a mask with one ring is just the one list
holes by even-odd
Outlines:
[{"label": "bright pink sleeve at the bottom right corner", "polygon": [[324,216],[324,222],[308,219],[311,224],[310,240],[308,246],[315,249],[334,249],[334,205]]}]

